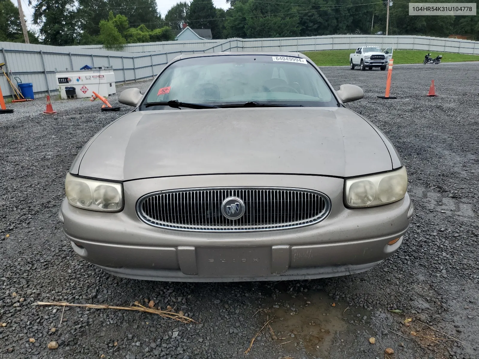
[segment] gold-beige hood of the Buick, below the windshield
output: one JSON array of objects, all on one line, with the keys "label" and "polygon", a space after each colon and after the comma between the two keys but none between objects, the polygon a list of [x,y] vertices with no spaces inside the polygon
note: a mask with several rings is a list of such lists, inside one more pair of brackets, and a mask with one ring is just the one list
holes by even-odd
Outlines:
[{"label": "gold-beige hood of the Buick, below the windshield", "polygon": [[226,173],[351,177],[392,169],[383,138],[343,107],[136,111],[96,135],[72,168],[111,180]]}]

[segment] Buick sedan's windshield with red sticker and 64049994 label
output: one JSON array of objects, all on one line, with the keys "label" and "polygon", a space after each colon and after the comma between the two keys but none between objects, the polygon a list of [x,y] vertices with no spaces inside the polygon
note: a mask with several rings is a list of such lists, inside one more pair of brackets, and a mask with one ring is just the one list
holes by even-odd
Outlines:
[{"label": "Buick sedan's windshield with red sticker and 64049994 label", "polygon": [[305,59],[266,55],[205,56],[174,62],[155,81],[141,110],[171,110],[164,103],[154,105],[168,101],[220,107],[251,102],[338,106],[325,80]]}]

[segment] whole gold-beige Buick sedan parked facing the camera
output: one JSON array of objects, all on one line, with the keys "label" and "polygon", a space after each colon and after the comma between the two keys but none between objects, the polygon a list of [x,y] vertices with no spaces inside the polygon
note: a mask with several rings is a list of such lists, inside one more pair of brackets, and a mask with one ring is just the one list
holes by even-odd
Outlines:
[{"label": "whole gold-beige Buick sedan parked facing the camera", "polygon": [[81,149],[59,218],[121,277],[312,279],[371,269],[413,213],[389,139],[299,53],[182,55]]}]

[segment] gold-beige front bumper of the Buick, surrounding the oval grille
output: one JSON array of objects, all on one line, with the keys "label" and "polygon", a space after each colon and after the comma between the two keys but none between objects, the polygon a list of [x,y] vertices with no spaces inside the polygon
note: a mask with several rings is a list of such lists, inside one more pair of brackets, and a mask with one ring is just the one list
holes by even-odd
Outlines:
[{"label": "gold-beige front bumper of the Buick, surrounding the oval grille", "polygon": [[[172,183],[174,181],[174,183]],[[192,181],[194,185],[192,186]],[[184,232],[140,221],[136,200],[171,188],[258,185],[317,189],[331,199],[318,224],[264,232]],[[412,215],[409,195],[384,206],[347,209],[343,180],[314,176],[197,176],[125,182],[119,213],[82,210],[62,203],[59,216],[74,251],[114,275],[175,281],[312,279],[358,273],[394,253]],[[399,238],[393,245],[388,242]]]}]

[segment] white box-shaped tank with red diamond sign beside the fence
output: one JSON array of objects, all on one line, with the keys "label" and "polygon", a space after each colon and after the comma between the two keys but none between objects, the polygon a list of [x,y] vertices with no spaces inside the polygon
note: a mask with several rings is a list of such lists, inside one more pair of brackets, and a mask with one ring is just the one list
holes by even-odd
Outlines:
[{"label": "white box-shaped tank with red diamond sign beside the fence", "polygon": [[93,67],[91,70],[58,71],[57,84],[62,99],[91,97],[95,91],[103,97],[116,93],[112,67]]}]

